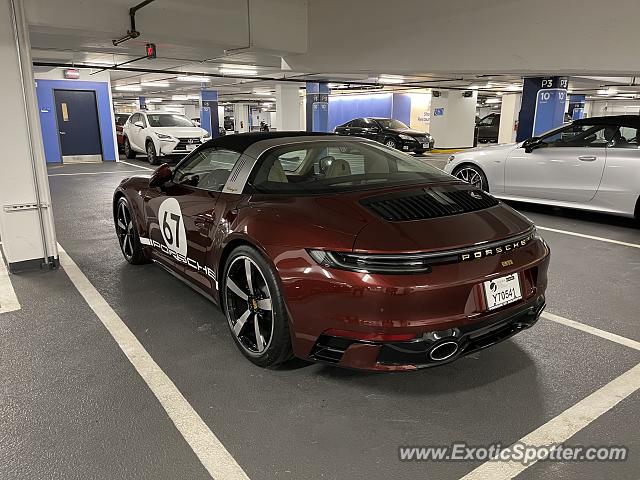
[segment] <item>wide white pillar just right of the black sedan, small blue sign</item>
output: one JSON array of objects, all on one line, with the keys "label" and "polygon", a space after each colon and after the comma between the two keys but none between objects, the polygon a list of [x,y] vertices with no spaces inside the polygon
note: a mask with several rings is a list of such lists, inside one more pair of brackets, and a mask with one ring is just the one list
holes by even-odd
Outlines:
[{"label": "wide white pillar just right of the black sedan, small blue sign", "polygon": [[431,97],[429,131],[436,148],[464,148],[473,146],[476,124],[475,90],[437,90]]}]

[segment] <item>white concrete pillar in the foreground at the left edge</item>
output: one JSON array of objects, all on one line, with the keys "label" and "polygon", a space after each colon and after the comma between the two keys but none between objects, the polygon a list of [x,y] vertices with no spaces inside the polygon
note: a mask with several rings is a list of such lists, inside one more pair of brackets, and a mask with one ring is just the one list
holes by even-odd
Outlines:
[{"label": "white concrete pillar in the foreground at the left edge", "polygon": [[58,262],[30,50],[21,0],[1,0],[0,131],[11,141],[0,160],[0,237],[10,271]]}]

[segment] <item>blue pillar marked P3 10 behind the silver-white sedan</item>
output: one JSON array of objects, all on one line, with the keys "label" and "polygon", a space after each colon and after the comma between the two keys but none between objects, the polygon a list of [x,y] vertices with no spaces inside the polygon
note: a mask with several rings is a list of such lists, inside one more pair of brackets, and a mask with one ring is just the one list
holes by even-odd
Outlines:
[{"label": "blue pillar marked P3 10 behind the silver-white sedan", "polygon": [[564,123],[567,77],[525,78],[516,141],[559,127]]}]

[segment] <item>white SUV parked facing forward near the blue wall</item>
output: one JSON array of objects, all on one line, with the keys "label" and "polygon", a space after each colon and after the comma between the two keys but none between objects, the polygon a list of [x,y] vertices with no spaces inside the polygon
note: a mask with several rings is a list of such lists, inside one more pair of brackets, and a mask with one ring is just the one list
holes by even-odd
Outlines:
[{"label": "white SUV parked facing forward near the blue wall", "polygon": [[160,163],[159,157],[189,153],[211,138],[184,115],[143,110],[129,117],[122,134],[127,158],[145,153],[151,165]]}]

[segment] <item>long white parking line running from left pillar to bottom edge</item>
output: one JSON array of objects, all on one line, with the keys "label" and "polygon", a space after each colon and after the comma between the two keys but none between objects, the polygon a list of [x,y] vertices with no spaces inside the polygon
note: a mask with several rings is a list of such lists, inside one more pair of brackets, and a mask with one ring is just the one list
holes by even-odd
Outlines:
[{"label": "long white parking line running from left pillar to bottom edge", "polygon": [[249,480],[200,415],[184,398],[167,374],[162,371],[136,336],[111,308],[67,252],[58,245],[60,265],[69,279],[98,316],[122,352],[156,396],[182,437],[197,455],[212,478]]}]

